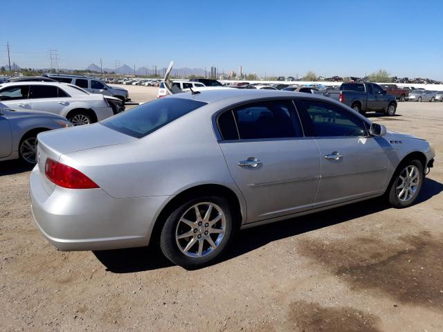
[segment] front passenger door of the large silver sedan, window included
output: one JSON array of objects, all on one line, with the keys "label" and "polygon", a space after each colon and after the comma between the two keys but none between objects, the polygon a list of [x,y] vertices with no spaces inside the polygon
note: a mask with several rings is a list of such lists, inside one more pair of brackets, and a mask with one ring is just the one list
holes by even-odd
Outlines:
[{"label": "front passenger door of the large silver sedan, window included", "polygon": [[298,100],[297,106],[320,149],[316,207],[382,192],[389,163],[383,138],[368,136],[362,118],[332,102]]}]

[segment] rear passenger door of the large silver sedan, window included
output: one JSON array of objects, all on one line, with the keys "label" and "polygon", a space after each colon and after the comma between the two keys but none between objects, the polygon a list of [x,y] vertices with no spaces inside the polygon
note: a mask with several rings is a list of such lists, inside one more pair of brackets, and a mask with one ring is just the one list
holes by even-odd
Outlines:
[{"label": "rear passenger door of the large silver sedan, window included", "polygon": [[291,100],[251,102],[221,113],[219,145],[247,204],[248,222],[309,210],[318,189],[316,142],[302,135]]}]

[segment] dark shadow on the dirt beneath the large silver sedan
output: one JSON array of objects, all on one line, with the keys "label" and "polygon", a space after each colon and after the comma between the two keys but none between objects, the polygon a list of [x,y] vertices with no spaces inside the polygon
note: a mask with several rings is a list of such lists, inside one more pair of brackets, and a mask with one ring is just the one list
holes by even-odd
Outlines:
[{"label": "dark shadow on the dirt beneath the large silver sedan", "polygon": [[[443,191],[443,184],[425,178],[422,191],[415,204],[422,203]],[[390,205],[383,199],[370,199],[340,208],[299,216],[277,223],[257,226],[242,230],[237,234],[230,249],[222,261],[256,250],[267,243],[293,237],[305,232],[311,232],[338,223],[352,221],[361,216],[367,216],[389,209]],[[278,227],[276,227],[278,226]],[[166,268],[173,264],[161,254],[159,248],[131,248],[119,250],[102,250],[93,252],[97,259],[113,273],[134,273],[146,270]],[[215,261],[214,264],[219,263]]]}]

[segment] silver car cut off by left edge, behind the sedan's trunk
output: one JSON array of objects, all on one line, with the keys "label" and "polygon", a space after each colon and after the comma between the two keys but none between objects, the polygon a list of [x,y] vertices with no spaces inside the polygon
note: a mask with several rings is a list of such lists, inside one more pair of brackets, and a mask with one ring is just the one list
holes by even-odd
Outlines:
[{"label": "silver car cut off by left edge, behind the sedan's trunk", "polygon": [[53,113],[0,109],[0,161],[20,159],[35,164],[37,134],[71,126]]}]

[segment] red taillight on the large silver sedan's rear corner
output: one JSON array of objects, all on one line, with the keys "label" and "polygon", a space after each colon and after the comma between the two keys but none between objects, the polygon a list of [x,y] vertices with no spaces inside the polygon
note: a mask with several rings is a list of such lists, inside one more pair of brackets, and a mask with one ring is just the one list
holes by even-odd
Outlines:
[{"label": "red taillight on the large silver sedan's rear corner", "polygon": [[44,173],[49,181],[69,189],[99,188],[90,178],[77,169],[64,165],[51,158],[46,159]]}]

